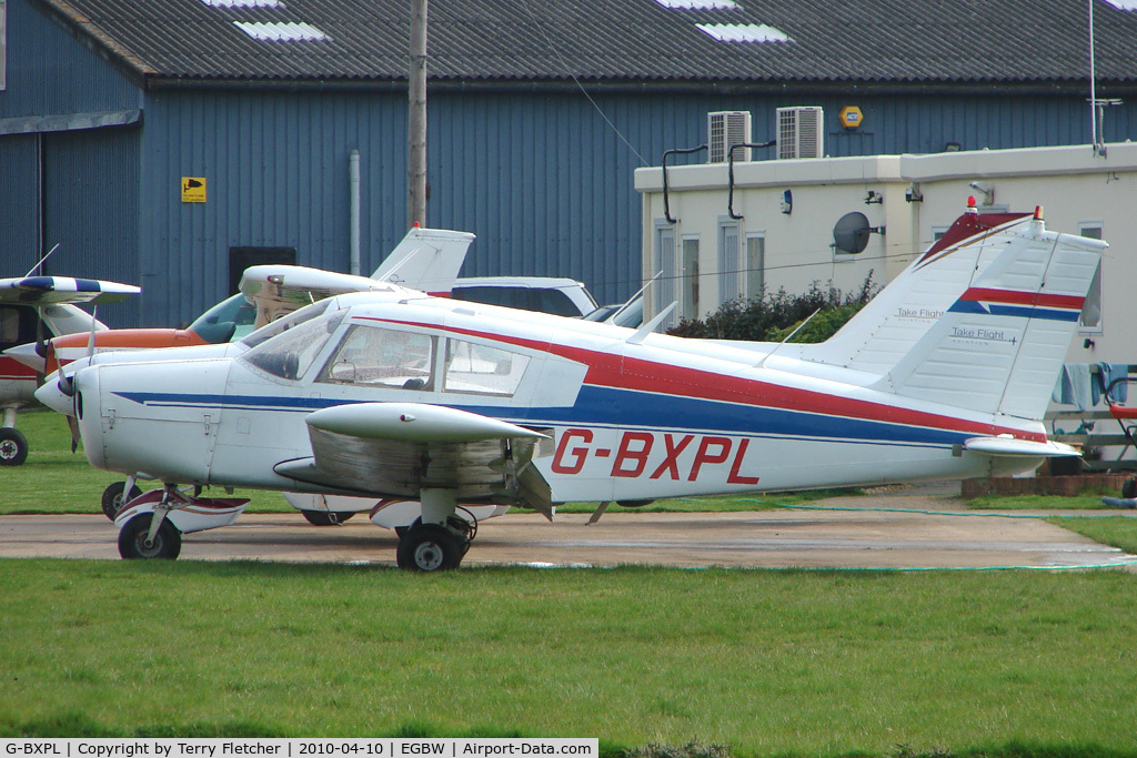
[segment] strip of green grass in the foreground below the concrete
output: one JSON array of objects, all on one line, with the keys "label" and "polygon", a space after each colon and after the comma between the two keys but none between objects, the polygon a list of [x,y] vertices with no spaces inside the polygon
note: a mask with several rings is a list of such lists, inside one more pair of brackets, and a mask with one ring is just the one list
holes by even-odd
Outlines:
[{"label": "strip of green grass in the foreground below the concrete", "polygon": [[1137,755],[1120,572],[0,560],[0,586],[3,735]]}]

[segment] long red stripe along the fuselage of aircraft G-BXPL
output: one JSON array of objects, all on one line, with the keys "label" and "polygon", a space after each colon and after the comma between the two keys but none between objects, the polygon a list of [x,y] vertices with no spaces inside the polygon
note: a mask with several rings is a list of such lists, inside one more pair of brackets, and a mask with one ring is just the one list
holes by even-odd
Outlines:
[{"label": "long red stripe along the fuselage of aircraft G-BXPL", "polygon": [[573,348],[525,338],[493,334],[441,324],[407,322],[392,318],[360,317],[362,320],[377,320],[404,326],[426,327],[476,336],[485,340],[506,342],[521,348],[530,348],[550,352],[562,358],[575,360],[588,366],[584,383],[594,386],[607,386],[617,390],[652,392],[656,394],[679,395],[699,400],[735,402],[762,408],[777,408],[807,414],[822,414],[858,420],[882,422],[886,424],[903,424],[906,426],[923,426],[929,428],[963,432],[976,435],[1013,434],[1020,440],[1045,442],[1045,434],[1034,434],[1021,430],[1006,428],[995,424],[965,422],[953,416],[943,416],[922,410],[911,410],[885,406],[866,400],[853,400],[812,390],[771,384],[758,380],[715,374],[697,368],[672,366],[670,364],[628,358],[626,356],[599,352],[587,348]]}]

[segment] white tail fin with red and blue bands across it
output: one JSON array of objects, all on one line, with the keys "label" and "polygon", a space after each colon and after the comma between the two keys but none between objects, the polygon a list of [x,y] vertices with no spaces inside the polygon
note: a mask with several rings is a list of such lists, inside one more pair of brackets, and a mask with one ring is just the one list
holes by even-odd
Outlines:
[{"label": "white tail fin with red and blue bands across it", "polygon": [[878,386],[1041,419],[1105,247],[1045,231],[1036,211]]}]

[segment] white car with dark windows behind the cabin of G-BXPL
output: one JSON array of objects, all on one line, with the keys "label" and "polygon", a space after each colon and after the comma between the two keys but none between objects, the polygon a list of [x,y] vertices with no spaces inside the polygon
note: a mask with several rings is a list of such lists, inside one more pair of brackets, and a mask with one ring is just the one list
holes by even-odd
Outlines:
[{"label": "white car with dark windows behind the cabin of G-BXPL", "polygon": [[575,280],[551,276],[474,276],[455,281],[455,300],[537,310],[557,316],[584,316],[596,298]]}]

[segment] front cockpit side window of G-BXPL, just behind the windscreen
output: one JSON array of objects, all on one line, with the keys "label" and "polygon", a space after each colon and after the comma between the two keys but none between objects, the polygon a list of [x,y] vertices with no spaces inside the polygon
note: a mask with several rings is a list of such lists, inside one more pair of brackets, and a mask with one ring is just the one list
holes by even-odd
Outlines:
[{"label": "front cockpit side window of G-BXPL, just behind the windscreen", "polygon": [[355,324],[316,381],[429,392],[437,344],[429,334]]}]

